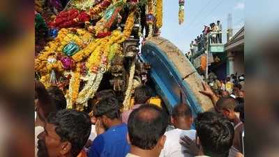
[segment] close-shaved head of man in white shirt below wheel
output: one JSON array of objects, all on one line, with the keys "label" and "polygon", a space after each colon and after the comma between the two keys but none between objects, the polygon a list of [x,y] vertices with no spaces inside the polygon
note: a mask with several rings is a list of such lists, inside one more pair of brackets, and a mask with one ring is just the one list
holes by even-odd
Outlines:
[{"label": "close-shaved head of man in white shirt below wheel", "polygon": [[193,124],[192,110],[189,105],[181,103],[175,105],[172,110],[172,124],[175,128],[190,130]]}]

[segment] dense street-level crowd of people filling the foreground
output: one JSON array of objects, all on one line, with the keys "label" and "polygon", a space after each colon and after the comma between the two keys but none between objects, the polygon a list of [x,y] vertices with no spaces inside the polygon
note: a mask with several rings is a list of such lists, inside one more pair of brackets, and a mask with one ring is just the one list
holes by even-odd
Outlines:
[{"label": "dense street-level crowd of people filling the foreground", "polygon": [[[218,84],[203,82],[202,94],[213,101],[214,112],[198,113],[179,103],[167,113],[149,102],[150,88],[135,89],[135,105],[122,112],[114,91],[98,91],[91,110],[66,109],[58,87],[35,82],[35,154],[38,157],[239,157],[244,154],[243,75]],[[218,89],[223,88],[223,84]],[[232,85],[234,84],[234,85]],[[233,96],[234,95],[234,96]],[[242,99],[239,99],[242,98]],[[240,101],[242,100],[242,101]],[[168,126],[174,126],[167,129]]]}]

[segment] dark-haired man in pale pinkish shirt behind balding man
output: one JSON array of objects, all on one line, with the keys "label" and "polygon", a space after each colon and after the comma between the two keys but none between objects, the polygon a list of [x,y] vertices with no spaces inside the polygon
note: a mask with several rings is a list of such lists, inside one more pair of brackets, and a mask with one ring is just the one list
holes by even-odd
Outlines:
[{"label": "dark-haired man in pale pinkish shirt behind balding man", "polygon": [[135,98],[135,105],[131,110],[128,110],[126,112],[123,112],[122,114],[122,122],[123,123],[128,123],[128,118],[131,112],[133,110],[137,109],[140,107],[142,104],[146,103],[149,98],[151,98],[151,90],[149,87],[145,85],[141,85],[140,87],[135,88],[135,93],[134,93],[134,98]]}]

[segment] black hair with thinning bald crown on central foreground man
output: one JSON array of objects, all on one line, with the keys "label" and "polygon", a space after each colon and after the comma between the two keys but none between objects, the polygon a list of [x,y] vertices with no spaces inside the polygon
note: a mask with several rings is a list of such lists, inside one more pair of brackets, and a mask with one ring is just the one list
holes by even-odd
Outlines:
[{"label": "black hair with thinning bald crown on central foreground man", "polygon": [[128,119],[128,133],[132,145],[153,149],[167,128],[167,115],[156,105],[142,105]]}]

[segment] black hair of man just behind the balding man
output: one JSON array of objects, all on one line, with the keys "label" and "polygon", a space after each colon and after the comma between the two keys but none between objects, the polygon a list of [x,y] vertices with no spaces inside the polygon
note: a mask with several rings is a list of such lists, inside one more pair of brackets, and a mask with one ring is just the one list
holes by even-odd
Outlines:
[{"label": "black hair of man just behind the balding man", "polygon": [[135,104],[146,103],[146,100],[151,98],[151,89],[145,85],[135,88]]}]

